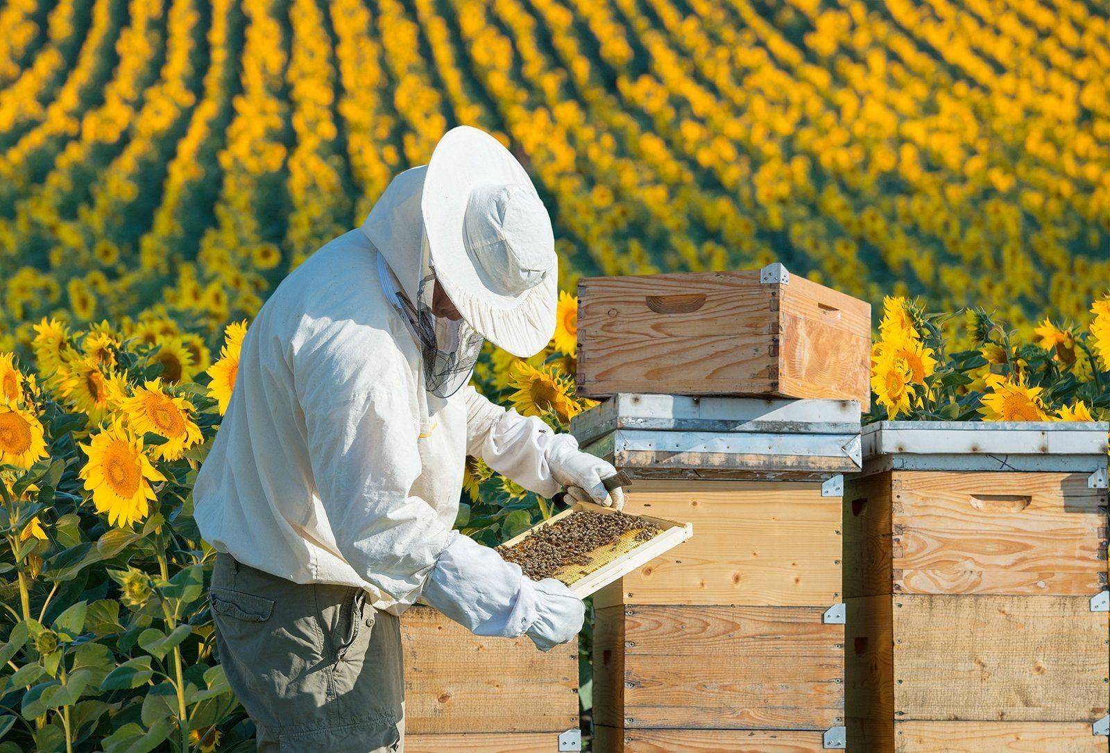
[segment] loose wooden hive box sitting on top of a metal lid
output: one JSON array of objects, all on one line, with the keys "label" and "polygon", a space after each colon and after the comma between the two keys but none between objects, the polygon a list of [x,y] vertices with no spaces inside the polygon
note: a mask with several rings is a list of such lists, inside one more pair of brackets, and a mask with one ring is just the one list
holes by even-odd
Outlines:
[{"label": "loose wooden hive box sitting on top of a metal lid", "polygon": [[578,284],[578,394],[870,400],[871,307],[760,271],[589,277]]}]

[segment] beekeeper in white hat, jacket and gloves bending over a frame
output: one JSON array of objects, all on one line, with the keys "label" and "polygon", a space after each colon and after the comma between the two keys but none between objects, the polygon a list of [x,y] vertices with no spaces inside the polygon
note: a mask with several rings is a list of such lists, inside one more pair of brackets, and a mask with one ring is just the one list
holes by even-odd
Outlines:
[{"label": "beekeeper in white hat, jacket and gloves bending over a frame", "polygon": [[194,497],[220,660],[260,751],[402,750],[397,615],[418,597],[542,650],[578,632],[565,586],[452,531],[467,454],[544,496],[622,503],[612,466],[466,386],[484,339],[547,344],[557,276],[527,174],[458,128],[251,324]]}]

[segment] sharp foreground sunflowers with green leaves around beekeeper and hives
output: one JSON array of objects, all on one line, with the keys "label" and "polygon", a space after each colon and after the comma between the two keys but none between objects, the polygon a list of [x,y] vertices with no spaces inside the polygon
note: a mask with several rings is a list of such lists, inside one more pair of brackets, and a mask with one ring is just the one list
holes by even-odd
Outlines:
[{"label": "sharp foreground sunflowers with green leaves around beekeeper and hives", "polygon": [[[548,347],[527,360],[491,348],[475,381],[565,430],[593,405],[574,390],[576,312],[561,294]],[[981,309],[942,317],[888,297],[872,418],[1108,418],[1110,297],[1091,314],[1019,343]],[[949,353],[946,329],[965,325],[973,347]],[[213,657],[214,554],[191,515],[246,323],[226,327],[214,360],[170,319],[33,329],[28,358],[0,355],[0,753],[252,750]],[[468,459],[465,533],[495,545],[552,512]]]}]

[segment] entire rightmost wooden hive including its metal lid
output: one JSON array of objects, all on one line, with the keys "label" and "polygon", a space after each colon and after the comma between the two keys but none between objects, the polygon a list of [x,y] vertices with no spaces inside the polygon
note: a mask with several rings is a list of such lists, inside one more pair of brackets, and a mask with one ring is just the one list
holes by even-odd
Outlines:
[{"label": "entire rightmost wooden hive including its metal lid", "polygon": [[865,428],[844,498],[849,749],[1106,753],[1107,428]]}]

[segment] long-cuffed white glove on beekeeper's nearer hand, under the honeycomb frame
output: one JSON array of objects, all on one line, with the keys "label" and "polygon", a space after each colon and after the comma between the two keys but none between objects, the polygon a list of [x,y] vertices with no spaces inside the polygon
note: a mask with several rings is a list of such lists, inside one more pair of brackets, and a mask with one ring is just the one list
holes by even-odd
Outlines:
[{"label": "long-cuffed white glove on beekeeper's nearer hand, under the honeycomb frame", "polygon": [[585,607],[563,583],[529,580],[496,550],[452,531],[424,586],[424,601],[476,635],[527,633],[541,650],[574,638]]}]

